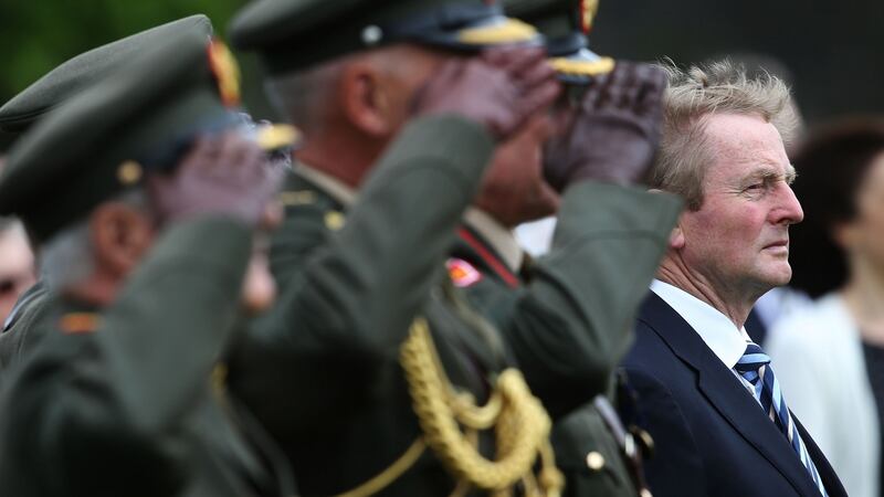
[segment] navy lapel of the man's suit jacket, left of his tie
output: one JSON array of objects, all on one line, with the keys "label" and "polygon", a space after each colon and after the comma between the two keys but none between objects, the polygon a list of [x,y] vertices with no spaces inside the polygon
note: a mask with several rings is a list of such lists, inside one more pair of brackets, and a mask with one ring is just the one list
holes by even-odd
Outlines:
[{"label": "navy lapel of the man's suit jacket, left of his tie", "polygon": [[713,353],[678,313],[651,292],[639,319],[653,329],[673,353],[697,372],[698,388],[703,395],[800,495],[818,494],[813,480],[786,437],[765,415],[734,372]]}]

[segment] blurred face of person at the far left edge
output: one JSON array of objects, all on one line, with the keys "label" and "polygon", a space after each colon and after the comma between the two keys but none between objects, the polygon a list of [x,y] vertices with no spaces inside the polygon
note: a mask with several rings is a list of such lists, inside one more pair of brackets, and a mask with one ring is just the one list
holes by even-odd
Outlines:
[{"label": "blurred face of person at the far left edge", "polygon": [[0,218],[0,321],[6,321],[19,296],[36,283],[35,271],[21,222]]}]

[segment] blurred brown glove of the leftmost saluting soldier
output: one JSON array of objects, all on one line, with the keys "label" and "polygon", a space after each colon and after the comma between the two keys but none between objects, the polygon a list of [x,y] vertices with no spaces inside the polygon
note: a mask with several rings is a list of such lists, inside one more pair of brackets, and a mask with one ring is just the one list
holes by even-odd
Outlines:
[{"label": "blurred brown glove of the leftmost saluting soldier", "polygon": [[173,171],[147,186],[161,222],[218,213],[254,226],[272,223],[267,208],[281,181],[282,169],[254,141],[229,131],[198,138]]}]

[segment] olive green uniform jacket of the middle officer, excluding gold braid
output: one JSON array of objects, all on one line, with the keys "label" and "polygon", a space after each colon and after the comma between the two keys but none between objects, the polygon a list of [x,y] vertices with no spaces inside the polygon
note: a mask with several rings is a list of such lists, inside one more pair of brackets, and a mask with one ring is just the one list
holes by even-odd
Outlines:
[{"label": "olive green uniform jacket of the middle officer, excluding gold braid", "polygon": [[[507,363],[431,292],[492,150],[475,124],[420,119],[349,209],[303,177],[290,179],[271,251],[280,297],[238,347],[230,387],[281,442],[305,496],[355,489],[421,438],[399,364],[414,315],[427,316],[452,382],[477,398],[488,383],[475,369]],[[446,496],[454,485],[422,450],[382,495]]]}]

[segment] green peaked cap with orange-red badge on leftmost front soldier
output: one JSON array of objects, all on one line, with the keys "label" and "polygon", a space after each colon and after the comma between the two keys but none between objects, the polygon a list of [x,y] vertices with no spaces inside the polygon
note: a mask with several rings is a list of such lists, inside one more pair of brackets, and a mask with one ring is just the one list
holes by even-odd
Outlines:
[{"label": "green peaked cap with orange-red badge on leftmost front soldier", "polygon": [[238,98],[239,70],[223,43],[170,33],[15,144],[0,176],[0,214],[19,215],[45,242],[147,175],[171,170],[197,135],[241,126]]}]

